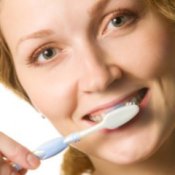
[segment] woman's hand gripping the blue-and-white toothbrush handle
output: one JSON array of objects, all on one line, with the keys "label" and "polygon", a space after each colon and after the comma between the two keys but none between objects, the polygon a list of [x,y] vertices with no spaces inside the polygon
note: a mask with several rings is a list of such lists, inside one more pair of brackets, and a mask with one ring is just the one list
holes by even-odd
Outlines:
[{"label": "woman's hand gripping the blue-and-white toothbrush handle", "polygon": [[[17,163],[24,169],[16,172],[12,163]],[[0,132],[0,175],[24,175],[27,169],[35,169],[40,160],[27,148]]]}]

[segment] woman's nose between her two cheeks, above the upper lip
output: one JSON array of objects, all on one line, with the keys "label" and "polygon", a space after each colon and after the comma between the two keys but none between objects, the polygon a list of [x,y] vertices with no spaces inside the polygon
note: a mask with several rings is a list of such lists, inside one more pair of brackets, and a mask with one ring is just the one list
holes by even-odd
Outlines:
[{"label": "woman's nose between her two cheeks, above the upper lip", "polygon": [[[86,49],[82,61],[80,89],[84,93],[101,92],[108,89],[116,80],[121,79],[122,70],[101,54]],[[115,62],[115,61],[114,61]]]}]

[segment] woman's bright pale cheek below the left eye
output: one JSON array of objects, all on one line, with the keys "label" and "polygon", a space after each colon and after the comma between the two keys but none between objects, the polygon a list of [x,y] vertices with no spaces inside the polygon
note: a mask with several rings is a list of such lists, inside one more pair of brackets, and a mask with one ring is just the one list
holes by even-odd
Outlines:
[{"label": "woman's bright pale cheek below the left eye", "polygon": [[76,106],[75,79],[70,79],[68,75],[58,76],[56,71],[43,75],[20,68],[18,75],[34,107],[53,121],[52,123],[71,116]]}]

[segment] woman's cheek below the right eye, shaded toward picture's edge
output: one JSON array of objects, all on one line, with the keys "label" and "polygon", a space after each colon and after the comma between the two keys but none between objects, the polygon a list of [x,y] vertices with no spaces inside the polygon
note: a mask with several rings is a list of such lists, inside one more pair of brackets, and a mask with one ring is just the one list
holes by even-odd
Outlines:
[{"label": "woman's cheek below the right eye, shaded toward picture's edge", "polygon": [[[162,24],[167,25],[167,24]],[[124,71],[150,79],[175,73],[175,34],[172,26],[148,24],[126,37],[113,39],[108,53]]]}]

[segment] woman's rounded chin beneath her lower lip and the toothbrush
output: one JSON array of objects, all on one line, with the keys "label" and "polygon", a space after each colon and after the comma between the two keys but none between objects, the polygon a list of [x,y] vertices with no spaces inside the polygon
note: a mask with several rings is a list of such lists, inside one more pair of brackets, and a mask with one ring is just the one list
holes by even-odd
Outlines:
[{"label": "woman's rounded chin beneath her lower lip and the toothbrush", "polygon": [[108,149],[104,148],[98,152],[98,156],[112,164],[131,165],[148,160],[159,147],[158,140],[151,140],[149,144],[133,141],[132,143],[118,144],[116,147],[113,145]]}]

